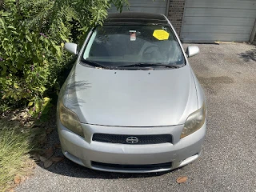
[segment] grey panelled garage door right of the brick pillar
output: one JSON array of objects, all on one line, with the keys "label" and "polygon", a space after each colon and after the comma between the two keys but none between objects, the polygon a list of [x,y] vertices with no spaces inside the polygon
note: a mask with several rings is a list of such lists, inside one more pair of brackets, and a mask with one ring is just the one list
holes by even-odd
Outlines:
[{"label": "grey panelled garage door right of the brick pillar", "polygon": [[256,0],[186,0],[183,42],[246,42],[256,18]]}]

